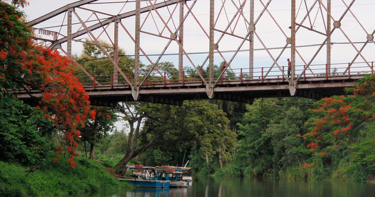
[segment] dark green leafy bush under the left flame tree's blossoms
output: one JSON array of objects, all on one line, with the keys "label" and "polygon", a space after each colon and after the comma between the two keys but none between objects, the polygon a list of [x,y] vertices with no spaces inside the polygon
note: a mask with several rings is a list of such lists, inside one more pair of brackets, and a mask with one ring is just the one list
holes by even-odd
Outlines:
[{"label": "dark green leafy bush under the left flame tree's blossoms", "polygon": [[35,164],[49,150],[51,120],[17,98],[0,93],[0,159]]}]

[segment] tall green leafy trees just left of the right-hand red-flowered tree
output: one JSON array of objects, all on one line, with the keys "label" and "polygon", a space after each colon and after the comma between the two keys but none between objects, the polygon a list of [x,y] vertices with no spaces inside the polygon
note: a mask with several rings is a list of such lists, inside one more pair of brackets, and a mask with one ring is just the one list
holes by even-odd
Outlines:
[{"label": "tall green leafy trees just left of the right-hand red-flowered tree", "polygon": [[258,99],[248,105],[239,123],[236,164],[243,176],[279,176],[280,170],[293,168],[305,159],[299,147],[305,133],[308,99]]}]

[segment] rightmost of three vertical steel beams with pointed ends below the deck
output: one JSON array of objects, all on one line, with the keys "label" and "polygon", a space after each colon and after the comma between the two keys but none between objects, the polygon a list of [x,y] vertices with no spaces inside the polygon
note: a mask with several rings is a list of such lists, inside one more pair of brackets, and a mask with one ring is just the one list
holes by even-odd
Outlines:
[{"label": "rightmost of three vertical steel beams with pointed ends below the deck", "polygon": [[289,84],[290,95],[296,94],[296,0],[291,0],[291,78]]}]

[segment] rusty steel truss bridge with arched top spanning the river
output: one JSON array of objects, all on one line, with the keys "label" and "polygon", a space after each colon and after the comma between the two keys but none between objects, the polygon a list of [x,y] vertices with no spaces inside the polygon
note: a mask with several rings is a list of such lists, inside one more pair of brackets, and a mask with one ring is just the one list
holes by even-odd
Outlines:
[{"label": "rusty steel truss bridge with arched top spanning the river", "polygon": [[[71,58],[86,74],[79,80],[93,105],[120,101],[180,105],[187,99],[252,104],[254,98],[263,97],[343,95],[345,87],[374,72],[375,18],[366,16],[374,4],[335,3],[81,0],[27,25],[33,27],[36,42],[68,57],[72,49],[87,43],[97,45],[113,63],[112,75],[95,76]],[[135,59],[131,73],[118,65],[120,47]],[[178,72],[159,69],[162,61],[171,59],[177,60]],[[141,60],[151,65],[147,71],[141,71]],[[224,71],[215,69],[214,63],[223,64]],[[192,70],[184,71],[184,65]]]}]

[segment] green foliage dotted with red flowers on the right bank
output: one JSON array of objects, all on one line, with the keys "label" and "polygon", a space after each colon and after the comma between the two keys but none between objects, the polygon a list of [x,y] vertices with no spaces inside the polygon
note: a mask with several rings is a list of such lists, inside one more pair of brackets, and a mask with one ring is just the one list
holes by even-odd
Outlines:
[{"label": "green foliage dotted with red flowers on the right bank", "polygon": [[315,179],[365,181],[375,173],[375,75],[367,75],[353,88],[354,96],[332,96],[309,110],[313,118],[302,135],[311,152]]}]

